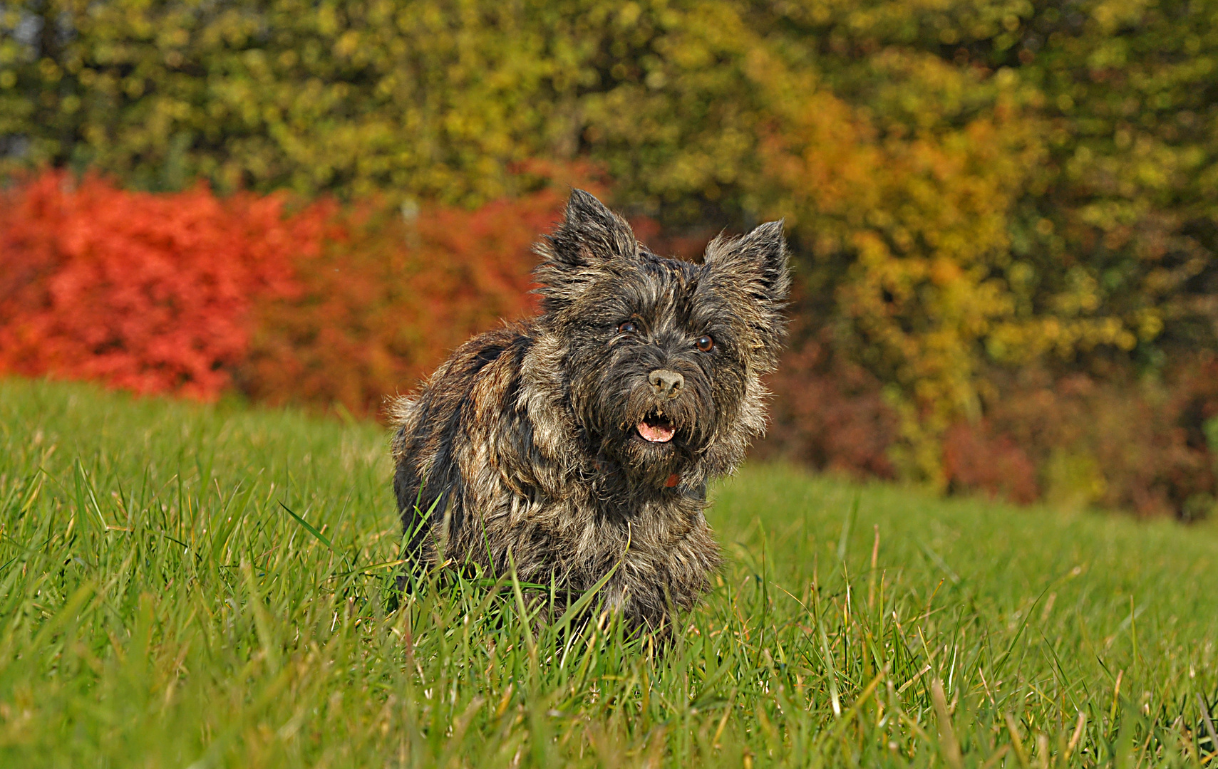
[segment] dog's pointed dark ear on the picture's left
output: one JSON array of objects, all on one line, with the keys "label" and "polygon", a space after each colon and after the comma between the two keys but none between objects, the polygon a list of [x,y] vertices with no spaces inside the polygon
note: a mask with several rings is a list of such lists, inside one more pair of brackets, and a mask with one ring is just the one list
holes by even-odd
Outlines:
[{"label": "dog's pointed dark ear on the picture's left", "polygon": [[548,313],[577,299],[605,269],[638,258],[638,241],[626,220],[583,190],[572,190],[566,217],[533,247],[542,263],[533,270]]}]

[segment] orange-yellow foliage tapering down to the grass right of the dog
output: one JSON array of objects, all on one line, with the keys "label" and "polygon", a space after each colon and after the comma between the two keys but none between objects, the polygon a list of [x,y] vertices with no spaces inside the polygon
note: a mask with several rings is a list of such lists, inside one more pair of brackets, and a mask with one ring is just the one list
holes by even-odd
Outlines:
[{"label": "orange-yellow foliage tapering down to the grass right of the dog", "polygon": [[834,303],[820,313],[837,346],[894,386],[898,475],[946,482],[943,434],[959,416],[978,415],[978,350],[995,326],[1022,329],[996,276],[1010,260],[1011,209],[1038,157],[1028,125],[1000,103],[963,125],[885,131],[818,91],[762,145],[780,183],[770,215],[784,215],[811,252],[809,284]]}]

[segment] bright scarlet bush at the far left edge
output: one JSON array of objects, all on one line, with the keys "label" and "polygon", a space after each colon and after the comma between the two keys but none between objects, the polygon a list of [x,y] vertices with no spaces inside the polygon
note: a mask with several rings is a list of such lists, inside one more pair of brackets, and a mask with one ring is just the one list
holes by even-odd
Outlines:
[{"label": "bright scarlet bush at the far left edge", "polygon": [[294,290],[323,208],[74,183],[45,173],[0,198],[0,374],[214,398],[246,353],[251,307]]}]

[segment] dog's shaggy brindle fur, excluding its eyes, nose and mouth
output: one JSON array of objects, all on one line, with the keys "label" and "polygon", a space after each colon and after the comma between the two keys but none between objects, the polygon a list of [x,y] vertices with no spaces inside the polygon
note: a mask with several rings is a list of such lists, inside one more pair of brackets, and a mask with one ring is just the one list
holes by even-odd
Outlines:
[{"label": "dog's shaggy brindle fur, excluding its eyes, nose and mouth", "polygon": [[[466,342],[395,404],[403,526],[428,562],[442,548],[504,574],[510,552],[519,579],[574,596],[620,562],[604,599],[658,628],[720,562],[706,481],[765,428],[760,377],[777,363],[790,282],[782,224],[716,238],[693,264],[650,253],[575,191],[537,253],[543,313]],[[627,320],[636,332],[619,330]],[[663,403],[658,369],[685,378]],[[676,430],[665,444],[636,432],[657,408]]]}]

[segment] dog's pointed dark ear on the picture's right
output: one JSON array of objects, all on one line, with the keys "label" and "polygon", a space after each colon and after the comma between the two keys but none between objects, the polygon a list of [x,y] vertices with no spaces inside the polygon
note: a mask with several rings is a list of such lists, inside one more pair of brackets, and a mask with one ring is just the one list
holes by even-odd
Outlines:
[{"label": "dog's pointed dark ear on the picture's right", "polygon": [[790,293],[787,240],[782,221],[767,221],[748,235],[716,237],[704,259],[711,275],[728,280],[758,301],[780,308]]}]

